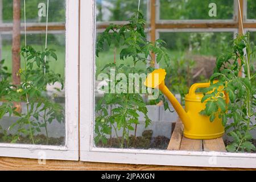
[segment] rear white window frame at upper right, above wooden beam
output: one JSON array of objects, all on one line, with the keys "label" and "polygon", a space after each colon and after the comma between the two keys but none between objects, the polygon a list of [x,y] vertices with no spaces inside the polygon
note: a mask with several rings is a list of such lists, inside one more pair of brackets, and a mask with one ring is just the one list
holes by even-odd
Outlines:
[{"label": "rear white window frame at upper right, above wooden beam", "polygon": [[[175,20],[175,19],[160,19],[160,0],[156,0],[156,23],[236,23],[238,21],[238,3],[234,1],[234,13],[232,19],[189,19],[189,20]],[[218,8],[218,7],[217,7]],[[209,9],[210,10],[210,9]]]}]

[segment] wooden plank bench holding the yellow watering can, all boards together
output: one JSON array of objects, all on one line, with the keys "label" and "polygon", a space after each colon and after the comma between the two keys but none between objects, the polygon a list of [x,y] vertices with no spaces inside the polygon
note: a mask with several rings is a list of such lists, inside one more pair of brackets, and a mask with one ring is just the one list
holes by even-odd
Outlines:
[{"label": "wooden plank bench holding the yellow watering can, all boards together", "polygon": [[183,129],[184,126],[180,119],[178,119],[167,150],[226,152],[226,147],[222,138],[210,140],[188,139],[183,136]]}]

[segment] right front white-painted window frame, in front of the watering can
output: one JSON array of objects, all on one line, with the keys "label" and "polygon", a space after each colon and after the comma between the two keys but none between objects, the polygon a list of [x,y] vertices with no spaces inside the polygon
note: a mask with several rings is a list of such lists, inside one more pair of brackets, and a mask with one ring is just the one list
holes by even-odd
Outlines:
[{"label": "right front white-painted window frame, in front of the watering can", "polygon": [[81,1],[80,160],[168,166],[256,168],[256,154],[97,148],[94,135],[95,0]]}]

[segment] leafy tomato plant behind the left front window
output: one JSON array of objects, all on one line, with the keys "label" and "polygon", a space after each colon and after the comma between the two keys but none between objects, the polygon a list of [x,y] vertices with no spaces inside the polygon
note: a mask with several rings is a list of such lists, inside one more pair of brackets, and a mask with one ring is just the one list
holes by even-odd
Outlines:
[{"label": "leafy tomato plant behind the left front window", "polygon": [[[1,80],[0,98],[4,100],[0,105],[0,118],[5,114],[11,117],[18,117],[9,127],[9,130],[16,130],[13,142],[16,142],[20,134],[28,135],[31,143],[35,144],[34,135],[46,130],[48,144],[48,124],[56,119],[64,121],[63,107],[56,104],[47,95],[47,85],[60,82],[64,87],[63,79],[55,74],[49,67],[49,57],[57,61],[54,49],[45,49],[43,52],[36,51],[31,46],[22,47],[20,54],[23,57],[24,69],[20,69],[18,75],[22,79],[20,85],[12,85],[9,81]],[[21,113],[16,111],[14,103],[25,103],[26,109]]]}]

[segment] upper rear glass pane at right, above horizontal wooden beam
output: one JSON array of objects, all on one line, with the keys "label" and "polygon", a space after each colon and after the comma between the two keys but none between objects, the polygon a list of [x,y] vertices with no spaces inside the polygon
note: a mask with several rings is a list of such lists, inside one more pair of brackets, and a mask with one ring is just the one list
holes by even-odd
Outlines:
[{"label": "upper rear glass pane at right, above horizontal wooden beam", "polygon": [[233,9],[233,0],[160,0],[160,19],[233,19]]}]

